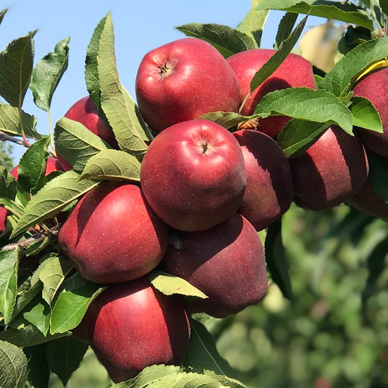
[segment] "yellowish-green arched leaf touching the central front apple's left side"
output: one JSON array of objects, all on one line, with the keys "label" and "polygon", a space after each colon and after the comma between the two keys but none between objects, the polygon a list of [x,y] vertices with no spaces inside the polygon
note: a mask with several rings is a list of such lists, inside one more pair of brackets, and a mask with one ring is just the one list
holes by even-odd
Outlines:
[{"label": "yellowish-green arched leaf touching the central front apple's left side", "polygon": [[120,179],[140,182],[140,162],[124,151],[108,149],[92,156],[83,169],[81,179]]}]

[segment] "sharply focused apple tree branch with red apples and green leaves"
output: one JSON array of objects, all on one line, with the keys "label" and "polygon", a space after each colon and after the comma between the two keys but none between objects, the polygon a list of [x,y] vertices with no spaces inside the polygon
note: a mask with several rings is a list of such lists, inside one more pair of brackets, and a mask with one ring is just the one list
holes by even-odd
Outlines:
[{"label": "sharply focused apple tree branch with red apples and green leaves", "polygon": [[[270,9],[286,14],[260,49]],[[291,53],[309,15],[345,26],[327,73]],[[12,41],[0,140],[26,151],[0,166],[0,386],[45,388],[50,372],[66,385],[90,345],[112,387],[244,387],[200,313],[236,314],[268,281],[292,298],[291,202],[388,218],[387,22],[384,0],[255,0],[236,29],[183,25],[189,38],[146,54],[136,103],[108,14],[86,53],[88,96],[54,126],[69,38],[35,65],[34,32]],[[29,89],[49,136],[23,111]]]}]

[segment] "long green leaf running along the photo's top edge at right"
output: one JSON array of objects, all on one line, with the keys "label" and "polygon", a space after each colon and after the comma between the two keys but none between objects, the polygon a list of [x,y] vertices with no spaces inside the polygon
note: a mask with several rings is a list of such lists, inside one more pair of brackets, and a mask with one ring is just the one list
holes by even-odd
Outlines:
[{"label": "long green leaf running along the photo's top edge at right", "polygon": [[274,9],[298,14],[309,14],[326,19],[335,19],[346,23],[357,24],[373,30],[373,22],[368,13],[351,3],[339,3],[325,0],[263,0],[257,10]]}]

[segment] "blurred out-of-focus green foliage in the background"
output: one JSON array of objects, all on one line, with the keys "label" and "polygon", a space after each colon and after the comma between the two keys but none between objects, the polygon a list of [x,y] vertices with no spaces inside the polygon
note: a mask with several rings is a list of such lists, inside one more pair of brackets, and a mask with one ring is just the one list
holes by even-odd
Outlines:
[{"label": "blurred out-of-focus green foliage in the background", "polygon": [[[329,71],[344,26],[312,28],[294,50]],[[343,39],[343,38],[342,38]],[[0,142],[0,164],[12,167]],[[264,300],[218,320],[201,315],[217,348],[251,388],[388,387],[388,228],[346,205],[312,212],[292,205],[283,242],[293,300],[270,284]],[[110,380],[89,349],[68,388]],[[62,388],[53,374],[50,388]]]}]

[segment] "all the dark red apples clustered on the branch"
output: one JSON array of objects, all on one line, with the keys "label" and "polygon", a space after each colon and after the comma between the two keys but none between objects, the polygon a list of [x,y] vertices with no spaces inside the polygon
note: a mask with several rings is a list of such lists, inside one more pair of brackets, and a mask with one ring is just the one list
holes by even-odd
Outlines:
[{"label": "all the dark red apples clustered on the branch", "polygon": [[[91,303],[81,326],[115,382],[152,364],[181,364],[191,312],[223,318],[264,297],[267,274],[257,232],[292,201],[310,210],[349,202],[388,217],[388,205],[368,181],[364,148],[388,157],[387,68],[354,87],[355,95],[370,99],[380,113],[384,133],[357,129],[350,136],[331,126],[294,158],[276,143],[291,117],[250,120],[233,132],[201,118],[217,111],[249,116],[269,92],[316,89],[310,63],[289,54],[250,93],[253,76],[274,52],[251,49],[225,59],[207,42],[186,38],[147,53],[138,69],[136,97],[157,135],[142,160],[140,184],[100,183],[59,231],[61,249],[79,273],[110,285]],[[65,117],[119,148],[89,97]],[[71,169],[63,156],[57,158],[48,159],[46,174]],[[11,174],[17,178],[17,167]],[[189,303],[155,290],[146,275],[156,267],[207,298]]]}]

